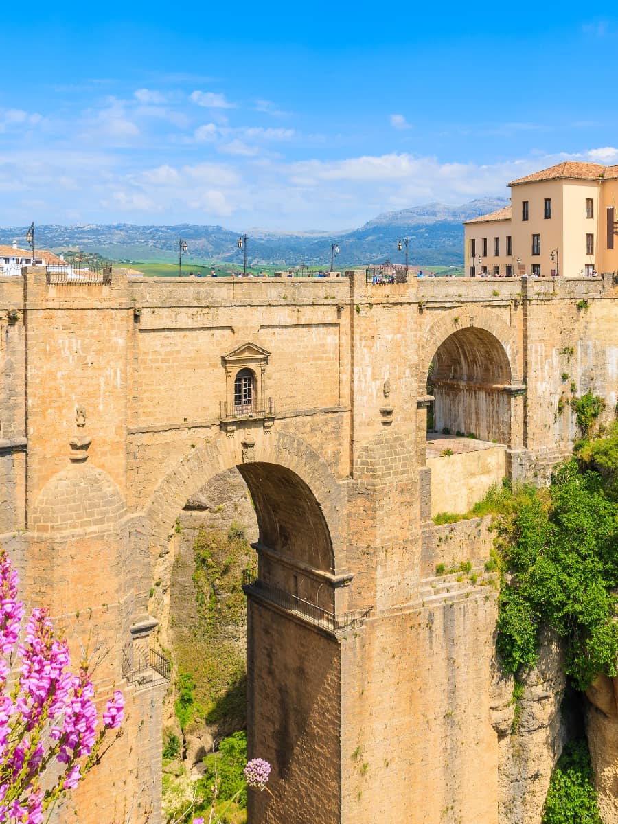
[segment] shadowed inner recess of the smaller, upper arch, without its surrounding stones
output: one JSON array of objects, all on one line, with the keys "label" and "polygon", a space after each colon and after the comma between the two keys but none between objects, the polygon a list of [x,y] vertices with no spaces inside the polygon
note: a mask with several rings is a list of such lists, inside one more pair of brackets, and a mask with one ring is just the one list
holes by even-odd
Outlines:
[{"label": "shadowed inner recess of the smaller, upper arch, without its surrounding stones", "polygon": [[478,326],[452,332],[438,345],[428,368],[433,431],[473,433],[508,444],[512,384],[508,354],[494,334]]}]

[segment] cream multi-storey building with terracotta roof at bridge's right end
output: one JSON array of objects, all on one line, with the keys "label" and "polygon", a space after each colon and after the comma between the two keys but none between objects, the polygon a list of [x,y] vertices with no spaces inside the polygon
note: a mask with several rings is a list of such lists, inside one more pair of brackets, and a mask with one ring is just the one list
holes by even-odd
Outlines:
[{"label": "cream multi-storey building with terracotta roof at bridge's right end", "polygon": [[564,161],[508,185],[510,206],[464,223],[471,277],[618,270],[618,166]]}]

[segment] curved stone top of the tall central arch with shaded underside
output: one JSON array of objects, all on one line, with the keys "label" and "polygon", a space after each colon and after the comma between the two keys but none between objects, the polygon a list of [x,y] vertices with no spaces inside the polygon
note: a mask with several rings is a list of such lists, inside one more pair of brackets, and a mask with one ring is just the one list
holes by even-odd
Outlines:
[{"label": "curved stone top of the tall central arch with shaded underside", "polygon": [[[232,437],[221,433],[199,444],[162,478],[144,510],[151,564],[165,547],[186,501],[213,475],[232,466],[239,469],[250,489],[260,543],[276,549],[285,546],[302,564],[319,566],[330,574],[344,569],[344,485],[306,442],[261,428],[236,431]],[[293,507],[285,511],[290,502]],[[295,540],[293,532],[302,527],[305,544],[316,550],[313,559]]]}]

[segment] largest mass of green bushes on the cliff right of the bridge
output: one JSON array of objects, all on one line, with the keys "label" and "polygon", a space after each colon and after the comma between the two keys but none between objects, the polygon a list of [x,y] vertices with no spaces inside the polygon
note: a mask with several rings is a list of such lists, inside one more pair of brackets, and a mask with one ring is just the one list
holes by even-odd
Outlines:
[{"label": "largest mass of green bushes on the cliff right of the bridge", "polygon": [[501,523],[512,573],[499,598],[497,647],[511,672],[536,662],[542,624],[564,640],[565,671],[578,689],[616,675],[618,507],[602,479],[577,462],[556,471],[549,497],[537,494]]}]

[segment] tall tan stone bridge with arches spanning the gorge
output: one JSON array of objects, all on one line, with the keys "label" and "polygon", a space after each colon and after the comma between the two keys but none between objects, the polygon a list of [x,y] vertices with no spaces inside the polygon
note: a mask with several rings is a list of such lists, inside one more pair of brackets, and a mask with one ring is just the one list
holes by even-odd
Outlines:
[{"label": "tall tan stone bridge with arches spanning the gorge", "polygon": [[236,466],[260,527],[249,747],[273,765],[250,822],[498,824],[496,592],[435,577],[482,569],[489,533],[431,516],[544,478],[571,396],[613,419],[611,276],[49,280],[0,279],[0,537],[89,639],[98,694],[129,699],[59,819],[161,820],[149,590],[187,499]]}]

